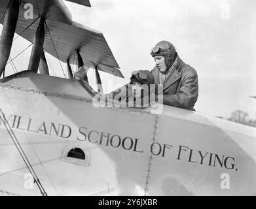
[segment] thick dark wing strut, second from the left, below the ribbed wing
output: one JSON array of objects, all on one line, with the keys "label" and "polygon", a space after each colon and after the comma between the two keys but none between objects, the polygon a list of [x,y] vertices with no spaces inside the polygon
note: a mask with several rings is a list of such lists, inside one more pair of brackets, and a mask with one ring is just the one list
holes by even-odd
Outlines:
[{"label": "thick dark wing strut, second from the left, below the ribbed wing", "polygon": [[45,42],[45,18],[41,17],[37,32],[33,40],[33,48],[29,59],[28,70],[37,72],[40,59],[43,54],[43,44]]}]

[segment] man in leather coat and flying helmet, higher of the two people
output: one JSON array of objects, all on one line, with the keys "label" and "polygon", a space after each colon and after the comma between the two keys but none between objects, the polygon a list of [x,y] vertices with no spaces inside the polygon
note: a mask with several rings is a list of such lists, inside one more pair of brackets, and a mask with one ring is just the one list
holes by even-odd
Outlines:
[{"label": "man in leather coat and flying helmet, higher of the two people", "polygon": [[174,45],[160,41],[151,50],[155,68],[151,71],[155,84],[162,84],[164,105],[194,110],[198,98],[198,76],[196,71],[178,56]]}]

